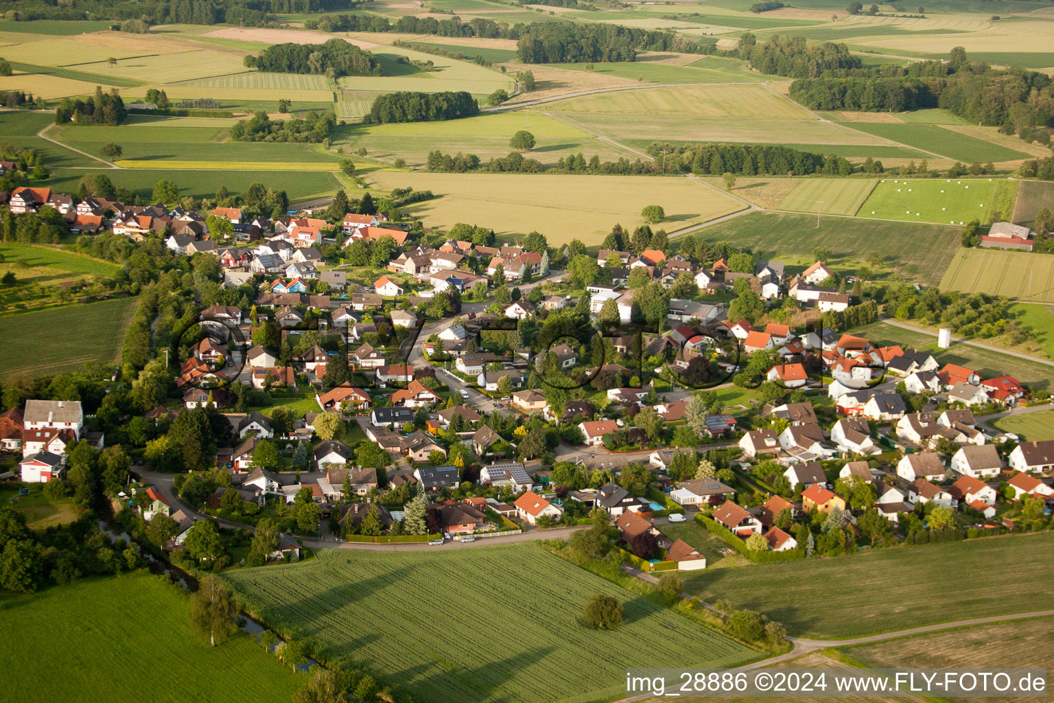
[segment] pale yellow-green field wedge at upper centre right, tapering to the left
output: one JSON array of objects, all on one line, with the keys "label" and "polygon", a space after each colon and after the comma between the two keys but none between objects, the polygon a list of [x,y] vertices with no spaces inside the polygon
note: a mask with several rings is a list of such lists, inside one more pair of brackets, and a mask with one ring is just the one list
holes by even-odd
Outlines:
[{"label": "pale yellow-green field wedge at upper centre right, tapering to the left", "polygon": [[684,85],[619,91],[574,98],[552,105],[553,112],[630,115],[698,115],[700,117],[770,117],[816,119],[764,85]]}]

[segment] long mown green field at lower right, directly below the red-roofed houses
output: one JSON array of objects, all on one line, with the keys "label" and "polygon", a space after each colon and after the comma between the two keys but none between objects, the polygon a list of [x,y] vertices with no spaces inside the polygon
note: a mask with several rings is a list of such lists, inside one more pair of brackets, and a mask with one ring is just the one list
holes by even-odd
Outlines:
[{"label": "long mown green field at lower right, directly below the red-roofed houses", "polygon": [[[782,622],[790,634],[852,638],[1039,609],[1049,601],[1054,534],[881,549],[836,559],[692,572],[685,590]],[[991,568],[998,564],[998,569]],[[970,573],[970,590],[959,587]],[[955,598],[917,598],[918,593]],[[875,607],[875,593],[882,593]]]}]

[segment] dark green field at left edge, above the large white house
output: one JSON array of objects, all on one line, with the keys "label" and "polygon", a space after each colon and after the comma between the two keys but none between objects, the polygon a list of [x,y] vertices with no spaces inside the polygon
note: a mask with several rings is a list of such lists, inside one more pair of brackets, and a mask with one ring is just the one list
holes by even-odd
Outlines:
[{"label": "dark green field at left edge, above the large white house", "polygon": [[135,298],[0,317],[0,378],[74,371],[84,362],[113,362],[135,311]]}]

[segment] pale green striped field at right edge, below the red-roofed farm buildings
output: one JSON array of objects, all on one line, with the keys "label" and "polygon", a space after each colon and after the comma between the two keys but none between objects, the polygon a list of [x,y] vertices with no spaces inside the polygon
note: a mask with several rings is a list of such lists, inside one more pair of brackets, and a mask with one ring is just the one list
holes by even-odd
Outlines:
[{"label": "pale green striped field at right edge, below the red-roofed farm buildings", "polygon": [[999,249],[960,249],[941,278],[942,290],[1054,302],[1054,256]]}]

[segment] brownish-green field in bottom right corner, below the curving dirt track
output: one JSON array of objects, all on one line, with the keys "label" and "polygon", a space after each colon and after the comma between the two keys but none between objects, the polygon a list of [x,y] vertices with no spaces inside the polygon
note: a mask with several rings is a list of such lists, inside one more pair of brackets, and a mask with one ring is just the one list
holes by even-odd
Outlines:
[{"label": "brownish-green field in bottom right corner, below the curving dirt track", "polygon": [[[839,647],[838,651],[876,668],[964,668],[977,666],[978,652],[983,651],[989,652],[985,659],[992,664],[1050,670],[1054,667],[1052,626],[1051,618],[1014,620]],[[1015,700],[1020,699],[985,697],[992,703]]]}]

